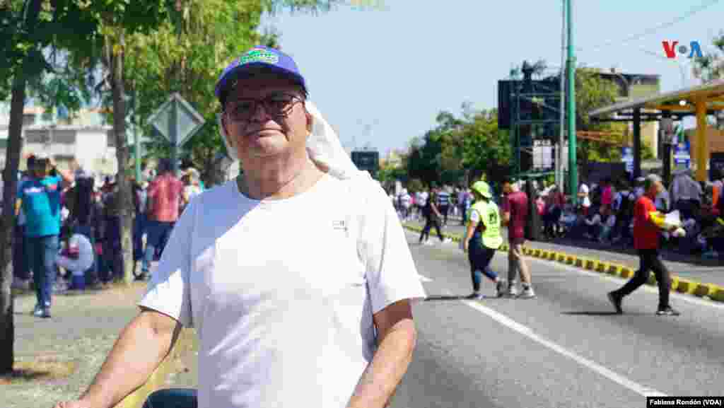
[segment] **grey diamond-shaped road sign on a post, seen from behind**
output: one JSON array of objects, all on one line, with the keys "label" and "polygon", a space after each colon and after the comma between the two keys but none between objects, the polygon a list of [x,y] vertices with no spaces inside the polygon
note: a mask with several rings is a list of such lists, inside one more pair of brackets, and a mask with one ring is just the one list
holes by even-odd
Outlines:
[{"label": "grey diamond-shaped road sign on a post, seen from behind", "polygon": [[203,117],[179,93],[156,109],[148,118],[153,128],[171,143],[171,163],[178,171],[178,149],[203,125]]}]

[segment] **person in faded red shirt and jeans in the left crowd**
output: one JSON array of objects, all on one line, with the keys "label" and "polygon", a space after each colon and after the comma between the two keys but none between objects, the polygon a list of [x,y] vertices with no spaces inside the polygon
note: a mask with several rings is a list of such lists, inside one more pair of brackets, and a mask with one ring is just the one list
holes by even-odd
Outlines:
[{"label": "person in faded red shirt and jeans in the left crowd", "polygon": [[171,230],[179,217],[179,204],[183,183],[172,173],[169,159],[159,160],[159,173],[148,185],[148,225],[146,252],[143,257],[143,278],[148,278],[148,268],[156,248],[163,251]]}]

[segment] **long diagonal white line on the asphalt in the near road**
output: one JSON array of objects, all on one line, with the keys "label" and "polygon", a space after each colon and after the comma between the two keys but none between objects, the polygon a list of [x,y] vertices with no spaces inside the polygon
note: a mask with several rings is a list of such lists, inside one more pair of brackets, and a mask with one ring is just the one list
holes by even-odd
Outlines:
[{"label": "long diagonal white line on the asphalt in the near road", "polygon": [[639,383],[634,382],[633,380],[629,380],[626,377],[623,377],[623,375],[618,375],[617,373],[607,369],[606,367],[603,367],[602,365],[597,364],[596,362],[592,362],[589,359],[586,359],[585,357],[581,357],[578,354],[574,353],[573,351],[568,351],[567,349],[564,349],[562,346],[559,346],[555,343],[553,343],[550,340],[547,340],[546,338],[542,338],[541,336],[538,336],[534,331],[524,325],[521,325],[518,322],[515,322],[515,320],[510,319],[510,317],[502,315],[501,313],[498,313],[494,311],[493,309],[490,309],[489,307],[484,307],[482,304],[479,304],[476,301],[462,301],[464,304],[467,304],[469,307],[472,307],[473,309],[476,309],[479,312],[484,313],[488,317],[492,318],[492,320],[495,320],[496,322],[499,322],[500,324],[517,331],[518,333],[521,333],[523,336],[526,336],[527,338],[530,338],[532,341],[535,341],[538,344],[541,344],[542,346],[546,346],[548,349],[551,349],[558,354],[562,354],[565,357],[568,357],[569,359],[572,359],[573,361],[577,362],[580,365],[583,365],[584,367],[589,368],[590,370],[593,370],[600,375],[603,375],[605,378],[608,378],[609,380],[612,380],[614,383],[617,383],[620,386],[626,387],[629,390],[641,394],[642,396],[666,396],[666,394],[663,394],[661,391],[654,390],[654,388],[649,388],[647,386],[642,386]]}]

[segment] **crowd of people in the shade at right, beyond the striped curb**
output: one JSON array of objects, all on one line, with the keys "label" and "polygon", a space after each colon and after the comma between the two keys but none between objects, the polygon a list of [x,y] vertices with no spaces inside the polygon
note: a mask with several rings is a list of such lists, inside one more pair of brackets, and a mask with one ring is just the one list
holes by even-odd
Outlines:
[{"label": "crowd of people in the shade at right, beyond the striped curb", "polygon": [[[662,249],[681,254],[700,254],[718,258],[724,254],[723,175],[715,170],[712,180],[698,182],[691,170],[675,172],[669,186],[664,186],[654,200],[662,213],[677,212],[686,236],[668,232],[660,235]],[[536,207],[543,220],[544,238],[571,238],[597,241],[605,246],[631,247],[633,243],[633,206],[644,195],[644,178],[629,183],[626,178],[615,182],[581,182],[576,200],[566,202],[555,186],[543,188],[536,197]]]}]

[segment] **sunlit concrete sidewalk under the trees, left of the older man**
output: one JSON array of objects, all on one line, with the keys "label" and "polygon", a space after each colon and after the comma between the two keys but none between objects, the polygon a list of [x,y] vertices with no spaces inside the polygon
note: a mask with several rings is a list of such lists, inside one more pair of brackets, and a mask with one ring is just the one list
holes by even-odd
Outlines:
[{"label": "sunlit concrete sidewalk under the trees, left of the older man", "polygon": [[[53,296],[53,317],[33,317],[35,294],[21,293],[15,298],[16,367],[29,363],[66,367],[67,376],[47,378],[42,372],[29,372],[2,384],[3,408],[52,407],[58,401],[76,399],[93,380],[122,328],[138,314],[136,302],[146,283],[130,288],[114,287],[102,291],[58,293]],[[193,355],[195,349],[189,350]],[[177,374],[168,383],[195,386],[192,361],[185,354],[177,364]],[[17,370],[17,368],[16,368]]]}]

